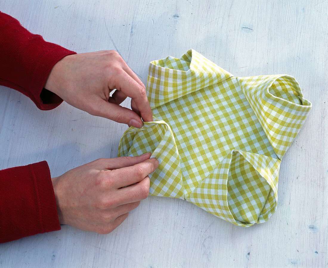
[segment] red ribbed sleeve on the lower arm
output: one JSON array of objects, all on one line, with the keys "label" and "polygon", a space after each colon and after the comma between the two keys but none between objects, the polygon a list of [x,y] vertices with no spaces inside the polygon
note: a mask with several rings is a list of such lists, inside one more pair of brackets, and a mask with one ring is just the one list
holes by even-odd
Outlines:
[{"label": "red ribbed sleeve on the lower arm", "polygon": [[0,243],[60,230],[46,161],[0,171]]}]

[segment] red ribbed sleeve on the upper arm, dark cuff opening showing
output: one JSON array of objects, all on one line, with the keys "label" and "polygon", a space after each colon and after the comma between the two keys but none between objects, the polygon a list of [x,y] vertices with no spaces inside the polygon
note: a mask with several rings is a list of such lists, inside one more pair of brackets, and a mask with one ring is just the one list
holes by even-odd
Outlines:
[{"label": "red ribbed sleeve on the upper arm, dark cuff opening showing", "polygon": [[52,67],[63,57],[76,54],[31,34],[18,20],[0,12],[0,85],[28,96],[41,110],[63,100],[44,89]]}]

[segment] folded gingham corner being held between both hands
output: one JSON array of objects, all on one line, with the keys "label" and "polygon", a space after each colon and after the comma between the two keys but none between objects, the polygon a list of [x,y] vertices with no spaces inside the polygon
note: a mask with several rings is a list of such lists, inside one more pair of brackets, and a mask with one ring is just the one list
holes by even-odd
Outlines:
[{"label": "folded gingham corner being held between both hands", "polygon": [[[162,120],[144,122],[141,129],[130,127],[123,135],[118,156],[138,156],[147,152],[159,161],[150,175],[149,193],[184,199],[180,159],[170,126]],[[144,146],[142,146],[144,145]],[[167,156],[169,159],[166,159]]]}]

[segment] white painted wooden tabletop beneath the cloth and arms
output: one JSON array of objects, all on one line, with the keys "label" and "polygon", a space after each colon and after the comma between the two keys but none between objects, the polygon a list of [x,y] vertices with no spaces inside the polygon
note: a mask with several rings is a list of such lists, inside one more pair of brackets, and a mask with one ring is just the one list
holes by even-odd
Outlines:
[{"label": "white painted wooden tabletop beneath the cloth and arms", "polygon": [[[78,53],[148,64],[193,48],[235,76],[293,75],[313,108],[282,160],[278,208],[242,228],[178,199],[149,197],[109,235],[62,230],[0,245],[0,267],[326,267],[328,1],[1,1],[33,33]],[[0,168],[47,160],[51,175],[115,157],[126,125],[68,104],[40,111],[0,87]],[[128,105],[128,102],[125,102]]]}]

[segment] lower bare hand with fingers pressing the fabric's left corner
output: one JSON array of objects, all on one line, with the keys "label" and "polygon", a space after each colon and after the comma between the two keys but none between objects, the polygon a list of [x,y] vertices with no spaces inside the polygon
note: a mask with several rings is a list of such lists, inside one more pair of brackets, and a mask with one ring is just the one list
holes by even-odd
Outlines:
[{"label": "lower bare hand with fingers pressing the fabric's left corner", "polygon": [[148,196],[148,175],[158,167],[150,156],[97,159],[52,178],[59,222],[99,234],[112,232]]}]

